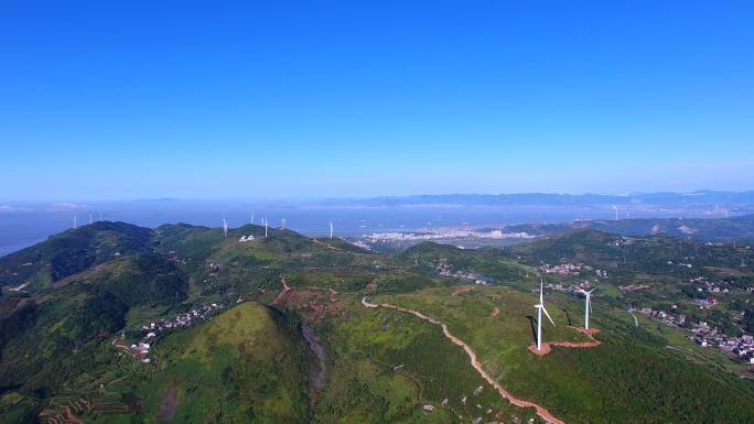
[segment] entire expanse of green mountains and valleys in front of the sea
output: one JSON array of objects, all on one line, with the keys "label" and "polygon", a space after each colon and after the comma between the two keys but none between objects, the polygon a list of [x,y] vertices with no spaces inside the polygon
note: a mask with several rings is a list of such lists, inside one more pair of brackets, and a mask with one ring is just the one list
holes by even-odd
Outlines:
[{"label": "entire expanse of green mountains and valleys in front of the sea", "polygon": [[[0,422],[746,423],[744,358],[690,336],[752,334],[753,254],[593,229],[390,256],[258,226],[86,226],[0,259]],[[595,336],[569,289],[585,282]]]}]

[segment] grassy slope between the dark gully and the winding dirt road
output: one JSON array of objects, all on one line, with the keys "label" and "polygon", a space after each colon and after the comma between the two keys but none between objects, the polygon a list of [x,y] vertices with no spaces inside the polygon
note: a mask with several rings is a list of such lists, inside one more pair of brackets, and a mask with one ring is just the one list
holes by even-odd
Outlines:
[{"label": "grassy slope between the dark gully and the winding dirt road", "polygon": [[[489,388],[474,395],[486,384],[439,327],[394,311],[366,309],[358,301],[344,301],[347,319],[319,323],[332,369],[314,422],[456,423],[532,416]],[[426,404],[438,409],[423,412]]]}]

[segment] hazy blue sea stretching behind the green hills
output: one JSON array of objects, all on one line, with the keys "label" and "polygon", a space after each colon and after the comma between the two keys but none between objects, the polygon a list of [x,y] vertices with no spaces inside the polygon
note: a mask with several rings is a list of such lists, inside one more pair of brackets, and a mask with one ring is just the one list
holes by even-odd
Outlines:
[{"label": "hazy blue sea stretching behind the green hills", "polygon": [[[8,209],[8,208],[7,208]],[[2,209],[0,209],[2,210]],[[322,236],[333,222],[337,237],[359,237],[374,232],[417,231],[438,228],[503,228],[513,224],[558,224],[584,219],[614,219],[614,211],[592,206],[386,206],[320,207],[233,202],[134,202],[110,204],[32,205],[0,211],[0,257],[39,243],[50,236],[89,219],[125,221],[157,228],[163,224],[186,222],[230,228],[251,222],[286,228],[306,236]],[[632,218],[676,217],[664,209],[632,210]],[[621,216],[623,218],[623,216]]]}]

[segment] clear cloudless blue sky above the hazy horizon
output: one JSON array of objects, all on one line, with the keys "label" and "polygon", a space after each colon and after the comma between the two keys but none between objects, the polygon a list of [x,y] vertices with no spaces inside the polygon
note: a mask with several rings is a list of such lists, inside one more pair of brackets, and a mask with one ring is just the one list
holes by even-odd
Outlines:
[{"label": "clear cloudless blue sky above the hazy horizon", "polygon": [[751,189],[752,4],[3,1],[0,199]]}]

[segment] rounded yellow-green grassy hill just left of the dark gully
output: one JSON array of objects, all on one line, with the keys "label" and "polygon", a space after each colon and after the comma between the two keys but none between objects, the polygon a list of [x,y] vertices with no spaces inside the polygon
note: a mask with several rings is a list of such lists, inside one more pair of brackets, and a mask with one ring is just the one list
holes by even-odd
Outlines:
[{"label": "rounded yellow-green grassy hill just left of the dark gully", "polygon": [[[121,422],[308,422],[308,358],[290,329],[263,305],[244,303],[173,334],[154,354],[157,366],[132,379],[141,412],[121,415]],[[112,418],[93,413],[85,422]]]}]

